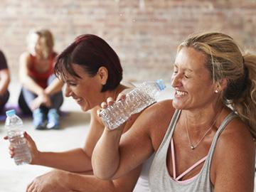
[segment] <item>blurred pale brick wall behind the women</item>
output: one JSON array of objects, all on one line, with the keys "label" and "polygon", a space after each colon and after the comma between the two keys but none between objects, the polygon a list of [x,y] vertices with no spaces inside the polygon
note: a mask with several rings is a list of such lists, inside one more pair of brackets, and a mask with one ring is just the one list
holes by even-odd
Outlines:
[{"label": "blurred pale brick wall behind the women", "polygon": [[94,33],[117,51],[124,80],[169,80],[176,46],[190,33],[222,31],[256,50],[255,10],[255,0],[1,0],[0,48],[16,75],[31,28],[50,28],[58,52]]}]

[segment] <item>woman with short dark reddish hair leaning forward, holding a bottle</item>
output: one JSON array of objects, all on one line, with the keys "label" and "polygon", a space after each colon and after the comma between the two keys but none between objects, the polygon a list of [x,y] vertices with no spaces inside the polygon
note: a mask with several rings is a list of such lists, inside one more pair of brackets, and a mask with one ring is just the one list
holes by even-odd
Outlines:
[{"label": "woman with short dark reddish hair leaning forward, holding a bottle", "polygon": [[[78,36],[56,58],[55,73],[66,84],[65,96],[73,97],[82,111],[90,110],[90,128],[84,146],[63,152],[39,151],[33,139],[25,134],[33,157],[31,164],[56,169],[35,178],[26,191],[149,191],[146,176],[139,180],[143,183],[138,187],[141,184],[137,183],[141,165],[112,181],[102,181],[92,174],[92,151],[105,127],[100,117],[97,117],[97,110],[107,97],[116,98],[120,92],[132,89],[132,85],[121,84],[122,66],[117,53],[98,36]],[[124,132],[129,130],[137,116],[138,114],[132,115]],[[10,150],[13,157],[14,149]],[[146,169],[147,166],[144,167]],[[137,189],[134,189],[136,183]]]}]

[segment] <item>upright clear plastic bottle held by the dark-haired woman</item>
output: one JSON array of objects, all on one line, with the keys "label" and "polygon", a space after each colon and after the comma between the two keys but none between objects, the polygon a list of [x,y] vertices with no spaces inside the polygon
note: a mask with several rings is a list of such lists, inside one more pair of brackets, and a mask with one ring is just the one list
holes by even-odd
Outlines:
[{"label": "upright clear plastic bottle held by the dark-haired woman", "polygon": [[29,164],[31,162],[31,152],[23,132],[23,122],[15,114],[15,110],[6,111],[5,127],[11,146],[14,147],[14,161],[16,165]]}]

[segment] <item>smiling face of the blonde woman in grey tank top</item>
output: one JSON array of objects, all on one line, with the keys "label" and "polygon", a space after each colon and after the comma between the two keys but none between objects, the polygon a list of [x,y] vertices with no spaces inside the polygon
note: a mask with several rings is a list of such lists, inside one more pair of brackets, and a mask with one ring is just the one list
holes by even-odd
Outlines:
[{"label": "smiling face of the blonde woman in grey tank top", "polygon": [[171,78],[176,109],[191,110],[213,102],[215,83],[205,63],[205,55],[194,48],[181,48],[177,53]]}]

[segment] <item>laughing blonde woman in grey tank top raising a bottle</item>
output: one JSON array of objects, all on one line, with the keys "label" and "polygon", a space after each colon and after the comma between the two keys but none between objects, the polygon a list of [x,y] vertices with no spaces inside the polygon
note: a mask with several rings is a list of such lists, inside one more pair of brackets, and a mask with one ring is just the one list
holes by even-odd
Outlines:
[{"label": "laughing blonde woman in grey tank top raising a bottle", "polygon": [[174,99],[144,110],[125,137],[124,125],[106,127],[92,153],[95,176],[119,178],[155,152],[151,191],[253,191],[255,73],[256,55],[230,36],[189,36],[174,62]]}]

